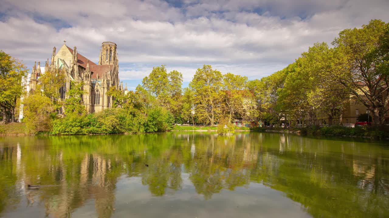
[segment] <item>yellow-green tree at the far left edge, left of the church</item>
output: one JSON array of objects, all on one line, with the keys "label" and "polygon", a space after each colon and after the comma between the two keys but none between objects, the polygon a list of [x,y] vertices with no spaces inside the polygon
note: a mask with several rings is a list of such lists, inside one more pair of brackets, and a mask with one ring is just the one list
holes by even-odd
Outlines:
[{"label": "yellow-green tree at the far left edge, left of the church", "polygon": [[25,91],[21,82],[26,75],[23,63],[0,50],[0,106],[6,121],[15,121],[15,107]]}]

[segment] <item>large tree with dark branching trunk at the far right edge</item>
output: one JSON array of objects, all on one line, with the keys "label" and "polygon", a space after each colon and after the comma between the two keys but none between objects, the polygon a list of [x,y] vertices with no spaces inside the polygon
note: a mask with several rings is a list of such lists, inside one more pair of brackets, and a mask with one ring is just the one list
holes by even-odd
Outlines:
[{"label": "large tree with dark branching trunk at the far right edge", "polygon": [[382,51],[387,48],[387,26],[380,20],[371,20],[362,28],[345,29],[333,45],[345,60],[342,72],[334,75],[354,97],[373,114],[374,123],[383,123],[389,103],[389,77]]}]

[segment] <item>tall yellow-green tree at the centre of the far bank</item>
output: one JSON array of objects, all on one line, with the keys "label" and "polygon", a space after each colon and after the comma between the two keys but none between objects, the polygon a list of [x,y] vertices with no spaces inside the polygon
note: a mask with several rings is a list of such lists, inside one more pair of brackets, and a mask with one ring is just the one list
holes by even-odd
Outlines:
[{"label": "tall yellow-green tree at the centre of the far bank", "polygon": [[210,65],[198,68],[189,88],[193,92],[193,102],[197,116],[208,119],[215,124],[215,118],[221,109],[221,88],[223,77],[220,71],[212,69]]}]

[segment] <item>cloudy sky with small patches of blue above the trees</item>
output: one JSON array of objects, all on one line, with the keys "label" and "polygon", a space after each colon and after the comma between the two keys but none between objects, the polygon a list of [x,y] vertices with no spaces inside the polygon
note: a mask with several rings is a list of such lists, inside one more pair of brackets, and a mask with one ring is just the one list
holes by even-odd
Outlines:
[{"label": "cloudy sky with small patches of blue above the trees", "polygon": [[389,22],[389,0],[0,0],[0,50],[31,69],[63,40],[97,63],[101,43],[117,44],[129,89],[153,66],[183,74],[210,64],[260,79],[315,42],[371,19]]}]

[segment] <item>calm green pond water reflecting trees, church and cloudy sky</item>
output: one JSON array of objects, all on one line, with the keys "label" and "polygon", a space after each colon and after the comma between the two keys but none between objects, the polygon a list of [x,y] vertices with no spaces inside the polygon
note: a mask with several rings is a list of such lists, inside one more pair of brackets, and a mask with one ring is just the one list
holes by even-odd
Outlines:
[{"label": "calm green pond water reflecting trees, church and cloudy sky", "polygon": [[0,137],[0,217],[389,217],[384,143],[249,132]]}]

